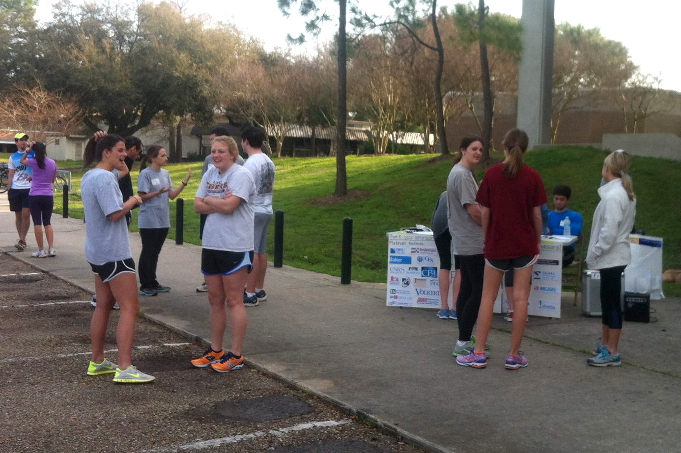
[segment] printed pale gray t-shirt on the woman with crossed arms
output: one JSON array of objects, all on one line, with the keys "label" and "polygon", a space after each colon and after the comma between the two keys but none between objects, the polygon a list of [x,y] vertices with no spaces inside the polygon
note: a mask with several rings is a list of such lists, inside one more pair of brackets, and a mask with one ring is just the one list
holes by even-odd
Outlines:
[{"label": "printed pale gray t-shirt on the woman with crossed arms", "polygon": [[203,248],[249,252],[253,250],[253,197],[255,182],[251,172],[240,165],[232,165],[220,174],[217,167],[208,168],[201,178],[196,198],[225,198],[225,192],[242,199],[232,214],[214,212],[208,214],[202,239]]}]

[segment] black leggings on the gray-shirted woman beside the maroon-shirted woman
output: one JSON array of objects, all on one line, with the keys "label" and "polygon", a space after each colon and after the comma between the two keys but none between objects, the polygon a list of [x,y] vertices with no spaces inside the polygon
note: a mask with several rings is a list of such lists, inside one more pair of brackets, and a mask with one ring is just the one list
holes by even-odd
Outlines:
[{"label": "black leggings on the gray-shirted woman beside the maroon-shirted woman", "polygon": [[485,275],[485,256],[456,255],[461,272],[461,288],[456,299],[456,320],[459,324],[459,341],[470,341],[477,312],[482,299],[482,281]]}]

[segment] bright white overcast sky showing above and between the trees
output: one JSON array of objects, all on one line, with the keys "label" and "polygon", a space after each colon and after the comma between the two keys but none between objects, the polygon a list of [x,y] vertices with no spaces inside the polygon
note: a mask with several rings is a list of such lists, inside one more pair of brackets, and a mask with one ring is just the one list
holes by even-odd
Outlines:
[{"label": "bright white overcast sky showing above and between the trees", "polygon": [[[80,3],[81,0],[72,0]],[[52,1],[42,0],[37,7],[37,18],[49,20],[52,16]],[[387,0],[360,0],[360,5],[375,14],[390,14]],[[458,3],[439,1],[449,8]],[[338,6],[333,0],[321,0],[319,4],[336,12]],[[477,1],[475,2],[477,5]],[[492,12],[502,12],[520,17],[522,0],[486,0]],[[369,6],[371,5],[371,6]],[[378,5],[378,6],[377,6]],[[210,14],[215,20],[236,24],[244,33],[262,40],[268,50],[286,47],[286,35],[297,36],[304,31],[304,21],[294,10],[284,18],[276,7],[276,0],[189,0],[187,8],[193,14]],[[642,71],[661,75],[663,88],[681,91],[681,58],[676,49],[678,18],[681,3],[676,0],[555,0],[555,18],[558,22],[582,24],[584,27],[599,27],[609,39],[621,41],[629,48],[633,62]],[[334,24],[324,26],[321,39],[329,39],[334,33]],[[308,46],[313,48],[313,43]]]}]

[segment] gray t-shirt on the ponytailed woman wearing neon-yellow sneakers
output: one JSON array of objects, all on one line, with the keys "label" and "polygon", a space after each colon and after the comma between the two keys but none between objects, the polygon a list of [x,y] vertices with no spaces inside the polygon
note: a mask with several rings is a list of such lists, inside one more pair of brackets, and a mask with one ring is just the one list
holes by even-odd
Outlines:
[{"label": "gray t-shirt on the ponytailed woman wearing neon-yellow sneakers", "polygon": [[93,265],[132,258],[127,222],[107,216],[123,209],[123,194],[111,171],[94,168],[80,180],[80,198],[85,211],[85,258]]}]

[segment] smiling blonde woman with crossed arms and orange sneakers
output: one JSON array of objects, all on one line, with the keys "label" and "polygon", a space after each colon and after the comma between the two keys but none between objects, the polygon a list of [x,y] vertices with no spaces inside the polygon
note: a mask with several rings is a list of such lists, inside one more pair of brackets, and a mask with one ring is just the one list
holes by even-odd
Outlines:
[{"label": "smiling blonde woman with crossed arms and orange sneakers", "polygon": [[[234,165],[238,147],[232,137],[215,137],[212,161],[196,191],[194,210],[208,214],[202,238],[201,271],[208,285],[210,303],[210,348],[191,360],[199,368],[212,367],[224,373],[243,368],[241,348],[248,316],[243,303],[246,275],[253,267],[253,197],[251,172]],[[222,348],[229,307],[232,346]]]}]

